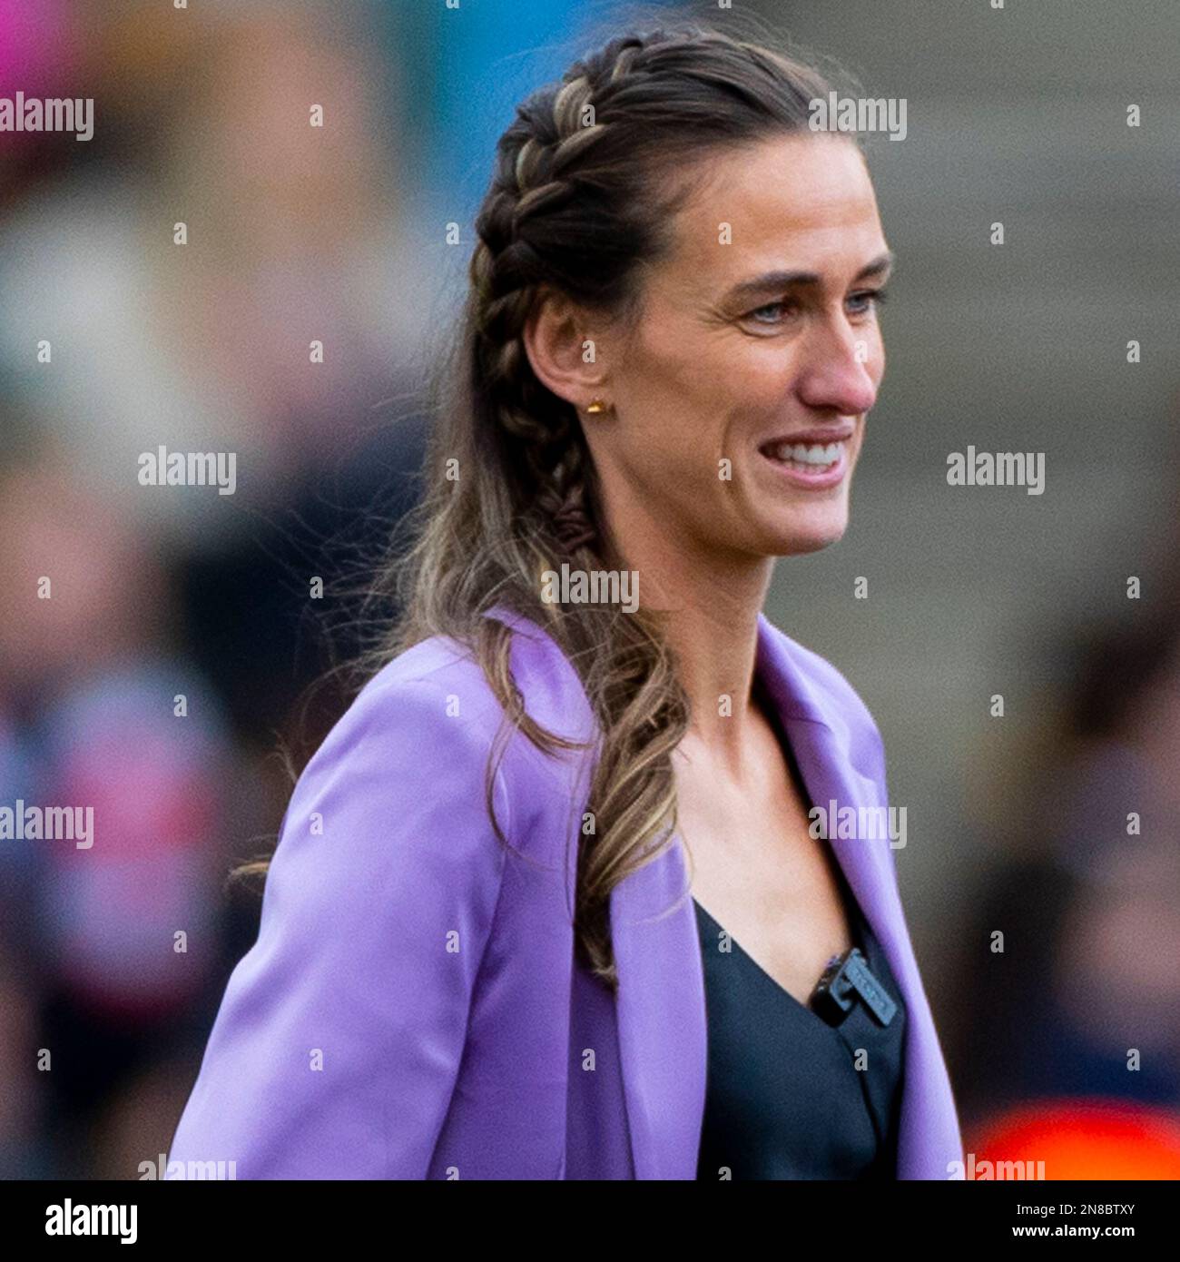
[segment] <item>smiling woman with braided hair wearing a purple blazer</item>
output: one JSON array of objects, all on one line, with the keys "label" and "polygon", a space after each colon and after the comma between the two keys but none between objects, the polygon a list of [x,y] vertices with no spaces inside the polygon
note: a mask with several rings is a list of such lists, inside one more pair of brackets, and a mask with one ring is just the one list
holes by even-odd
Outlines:
[{"label": "smiling woman with braided hair wearing a purple blazer", "polygon": [[687,25],[519,107],[406,613],[294,790],[174,1161],[960,1160],[888,840],[808,814],[885,805],[881,737],[761,613],[775,557],[841,538],[885,366],[888,251],[857,144],[808,127],[827,91]]}]

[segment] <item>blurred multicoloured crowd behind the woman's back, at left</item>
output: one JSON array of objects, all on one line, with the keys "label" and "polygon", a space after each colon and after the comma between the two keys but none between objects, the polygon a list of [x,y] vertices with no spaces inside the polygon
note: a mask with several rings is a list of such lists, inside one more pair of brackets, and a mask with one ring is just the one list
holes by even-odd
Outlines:
[{"label": "blurred multicoloured crowd behind the woman's back, at left", "polygon": [[[91,805],[98,838],[0,840],[4,1177],[167,1152],[256,931],[227,873],[416,493],[424,268],[370,121],[400,63],[326,14],[0,0],[0,83],[96,101],[93,141],[0,135],[0,803]],[[141,486],[162,444],[235,453],[235,493]]]}]

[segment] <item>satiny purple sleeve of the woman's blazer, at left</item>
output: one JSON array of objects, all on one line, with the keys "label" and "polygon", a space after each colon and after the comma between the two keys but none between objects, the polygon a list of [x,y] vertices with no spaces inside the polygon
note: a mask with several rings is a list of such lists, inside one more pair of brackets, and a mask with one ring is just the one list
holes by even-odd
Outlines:
[{"label": "satiny purple sleeve of the woman's blazer, at left", "polygon": [[[169,1170],[425,1177],[504,876],[488,746],[427,679],[376,676],[333,728],[292,795]],[[495,795],[510,835],[499,774]]]}]

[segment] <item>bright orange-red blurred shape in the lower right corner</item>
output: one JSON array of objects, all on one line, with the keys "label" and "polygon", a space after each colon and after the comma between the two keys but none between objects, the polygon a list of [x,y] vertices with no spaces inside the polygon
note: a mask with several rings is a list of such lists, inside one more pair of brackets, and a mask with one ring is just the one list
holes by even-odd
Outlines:
[{"label": "bright orange-red blurred shape in the lower right corner", "polygon": [[977,1169],[1044,1161],[1046,1180],[1180,1179],[1180,1114],[1122,1100],[1044,1100],[992,1118],[971,1147]]}]

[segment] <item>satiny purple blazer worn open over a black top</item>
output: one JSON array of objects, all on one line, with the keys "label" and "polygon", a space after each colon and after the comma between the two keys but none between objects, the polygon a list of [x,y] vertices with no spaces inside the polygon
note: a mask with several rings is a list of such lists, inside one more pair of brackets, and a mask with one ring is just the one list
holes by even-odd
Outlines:
[{"label": "satiny purple blazer worn open over a black top", "polygon": [[[514,630],[533,717],[593,741],[554,640],[491,616]],[[881,736],[839,671],[764,615],[756,670],[811,801],[887,805]],[[695,1177],[704,978],[680,839],[612,892],[616,998],[573,953],[591,758],[512,736],[493,789],[510,853],[485,799],[500,717],[478,665],[434,637],[327,736],[292,795],[259,938],[170,1161],[233,1161],[239,1179]],[[959,1127],[894,851],[829,844],[907,1006],[899,1177],[947,1179]]]}]

